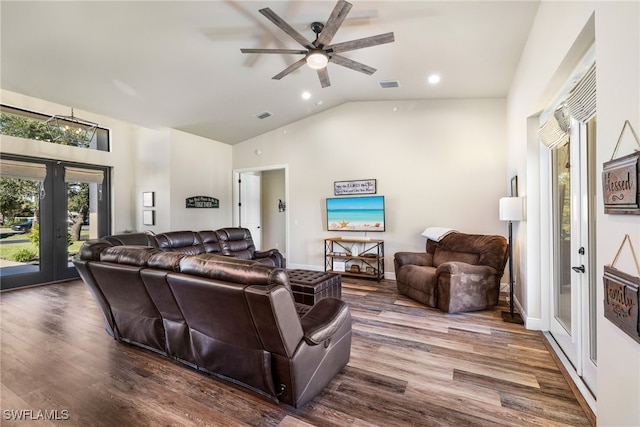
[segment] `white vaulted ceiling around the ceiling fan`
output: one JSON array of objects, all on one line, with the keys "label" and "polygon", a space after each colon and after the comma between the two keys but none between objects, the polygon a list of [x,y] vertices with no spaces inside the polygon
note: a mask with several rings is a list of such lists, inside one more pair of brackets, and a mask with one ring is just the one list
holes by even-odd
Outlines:
[{"label": "white vaulted ceiling around the ceiling fan", "polygon": [[[343,55],[372,76],[329,64],[322,89],[301,48],[258,10],[313,40],[327,1],[2,1],[2,88],[145,127],[235,144],[350,101],[505,97],[538,1],[358,1],[333,43],[393,31],[395,42]],[[442,81],[426,78],[439,73]],[[399,88],[380,88],[399,80]],[[304,100],[303,91],[311,98]],[[264,120],[255,114],[269,111]],[[60,111],[58,114],[69,114]],[[80,116],[78,114],[78,116]]]}]

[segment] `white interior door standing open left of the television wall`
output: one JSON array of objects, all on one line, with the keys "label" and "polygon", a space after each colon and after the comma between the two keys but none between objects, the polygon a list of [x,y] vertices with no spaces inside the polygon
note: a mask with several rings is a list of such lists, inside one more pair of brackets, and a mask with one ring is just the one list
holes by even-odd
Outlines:
[{"label": "white interior door standing open left of the television wall", "polygon": [[262,249],[260,173],[240,174],[240,227],[248,228],[256,249]]}]

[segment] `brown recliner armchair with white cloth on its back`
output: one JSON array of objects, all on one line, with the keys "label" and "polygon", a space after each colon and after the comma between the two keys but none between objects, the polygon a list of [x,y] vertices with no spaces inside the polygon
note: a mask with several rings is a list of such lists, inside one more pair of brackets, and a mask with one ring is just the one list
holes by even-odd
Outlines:
[{"label": "brown recliner armchair with white cloth on its back", "polygon": [[502,236],[450,233],[427,239],[425,252],[397,252],[398,292],[448,313],[484,310],[498,304],[508,258]]}]

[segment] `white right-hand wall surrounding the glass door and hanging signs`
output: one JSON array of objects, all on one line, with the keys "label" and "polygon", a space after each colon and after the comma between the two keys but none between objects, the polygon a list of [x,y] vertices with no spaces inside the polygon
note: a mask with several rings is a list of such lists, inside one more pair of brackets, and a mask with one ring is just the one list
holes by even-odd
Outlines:
[{"label": "white right-hand wall surrounding the glass door and hanging signs", "polygon": [[[527,196],[526,222],[519,224],[519,259],[524,285],[520,302],[527,325],[545,326],[549,311],[548,283],[541,277],[540,209],[546,197],[540,188],[539,144],[531,133],[531,117],[551,102],[561,83],[576,65],[589,39],[595,38],[597,63],[597,173],[609,160],[625,120],[640,129],[640,3],[542,2],[527,47],[522,55],[508,100],[509,173],[523,177]],[[626,152],[632,143],[626,142]],[[597,180],[600,182],[599,178]],[[640,246],[640,217],[605,215],[602,189],[597,188],[597,277],[612,261],[624,234]],[[619,268],[634,274],[628,257]],[[603,426],[640,425],[640,345],[603,314],[602,280],[598,280],[597,418]],[[531,320],[531,322],[530,322]]]}]

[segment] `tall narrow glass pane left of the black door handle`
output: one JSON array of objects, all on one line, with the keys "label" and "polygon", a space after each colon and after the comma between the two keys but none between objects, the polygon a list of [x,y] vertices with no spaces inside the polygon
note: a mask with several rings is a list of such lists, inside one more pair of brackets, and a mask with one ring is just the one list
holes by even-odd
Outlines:
[{"label": "tall narrow glass pane left of the black door handle", "polygon": [[570,143],[553,149],[554,316],[571,334],[571,164]]}]

